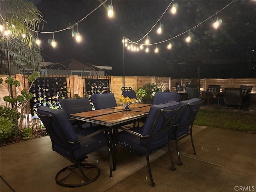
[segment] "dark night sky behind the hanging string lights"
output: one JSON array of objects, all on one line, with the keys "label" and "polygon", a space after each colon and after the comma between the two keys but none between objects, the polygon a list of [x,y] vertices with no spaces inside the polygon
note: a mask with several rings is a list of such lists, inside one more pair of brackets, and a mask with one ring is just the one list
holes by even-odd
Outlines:
[{"label": "dark night sky behind the hanging string lights", "polygon": [[[102,1],[38,1],[35,5],[47,22],[44,24],[44,28],[40,29],[40,31],[51,32],[64,29],[70,24],[74,24],[84,18],[84,16],[89,14],[101,2]],[[84,56],[87,56],[96,59],[97,64],[112,66],[112,75],[122,76],[122,37],[126,36],[134,41],[142,38],[142,36],[152,28],[158,18],[160,18],[170,2],[171,1],[164,0],[112,1],[115,17],[110,19],[107,16],[106,9],[111,2],[107,1],[78,24],[80,35],[83,38],[83,41],[80,44],[72,38],[71,29],[54,34],[54,38],[56,42],[58,42],[57,48],[52,48],[52,46],[48,44],[48,39],[51,40],[53,34],[39,33],[38,36],[42,40],[42,54],[45,61],[61,62],[70,58],[83,58]],[[198,6],[196,1],[176,2],[178,3],[177,14],[175,16],[171,15],[169,10],[164,14],[161,19],[161,23],[164,25],[164,33],[159,37],[156,35],[156,28],[154,28],[149,34],[152,42],[166,40],[192,28],[196,25],[196,15],[199,15],[200,17],[200,13],[202,12],[200,18],[202,21],[203,18],[207,17],[205,14],[211,16],[214,12],[220,10],[231,1],[213,1],[212,3],[208,1],[198,1],[205,2],[203,8]],[[245,4],[250,6],[250,3],[252,3],[252,1],[245,1],[242,6]],[[218,16],[224,17],[224,15],[232,14],[232,12],[244,11],[242,6],[237,6],[237,4],[231,5],[230,8],[226,8],[220,12]],[[251,10],[247,9],[248,15],[250,15],[250,11],[255,11],[255,8],[251,8]],[[230,18],[232,18],[232,16],[230,16]],[[239,19],[238,16],[237,18]],[[215,18],[211,21],[213,20],[215,20]],[[223,22],[222,25],[225,26],[227,20],[224,20]],[[234,25],[235,21],[230,19],[228,22]],[[203,39],[205,28],[211,28],[211,23],[212,22],[208,22],[202,27],[199,27],[198,30],[194,31],[194,41],[199,41],[199,38]],[[158,25],[159,24],[157,24],[157,26]],[[239,27],[240,30],[242,30],[241,26]],[[200,29],[202,32],[200,32]],[[76,30],[77,27],[75,26],[74,31]],[[174,47],[172,52],[166,49],[167,44],[158,45],[160,49],[160,53],[158,54],[155,54],[153,51],[155,46],[150,47],[151,51],[148,54],[144,51],[130,52],[125,50],[126,75],[175,76],[177,72],[170,70],[170,64],[172,62],[182,62],[189,54],[200,48],[202,45],[202,43],[187,45],[184,43],[184,38],[185,36],[182,36],[173,40]],[[231,34],[228,34],[225,38],[230,40],[233,37]],[[212,39],[210,39],[210,41],[211,42],[208,42],[208,44],[212,45]],[[194,72],[196,72],[196,70]],[[191,76],[194,76],[194,74],[191,74]]]}]

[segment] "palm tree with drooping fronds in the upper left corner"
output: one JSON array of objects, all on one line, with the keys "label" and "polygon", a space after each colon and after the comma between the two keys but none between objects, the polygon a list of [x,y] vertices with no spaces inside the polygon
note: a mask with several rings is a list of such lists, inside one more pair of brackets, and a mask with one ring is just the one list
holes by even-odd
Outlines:
[{"label": "palm tree with drooping fronds in the upper left corner", "polygon": [[[40,46],[35,43],[36,31],[44,20],[32,2],[0,0],[1,74],[7,74],[4,60],[10,55],[10,64],[19,69],[40,70],[44,60]],[[6,64],[6,63],[5,63]]]}]

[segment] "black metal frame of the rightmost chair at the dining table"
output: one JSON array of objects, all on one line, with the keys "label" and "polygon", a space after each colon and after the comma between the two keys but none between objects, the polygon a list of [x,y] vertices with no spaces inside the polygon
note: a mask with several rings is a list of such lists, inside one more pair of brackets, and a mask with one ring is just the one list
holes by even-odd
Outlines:
[{"label": "black metal frame of the rightmost chair at the dining table", "polygon": [[[192,127],[193,127],[193,124],[194,124],[194,120],[196,119],[196,114],[202,104],[203,100],[201,100],[200,103],[198,104],[190,104],[188,103],[184,109],[184,112],[180,118],[180,120],[182,120],[182,117],[184,116],[185,112],[186,112],[186,108],[189,108],[190,110],[190,114],[189,114],[189,117],[188,119],[186,120],[186,122],[184,122],[182,125],[178,124],[177,126],[177,130],[176,130],[176,135],[175,135],[175,146],[176,146],[176,152],[177,152],[177,156],[178,156],[178,162],[179,162],[179,165],[182,166],[182,162],[180,160],[180,152],[179,152],[179,148],[178,148],[178,141],[183,139],[184,137],[186,136],[189,136],[190,135],[190,140],[191,140],[191,143],[192,143],[192,148],[193,148],[193,151],[194,151],[194,155],[197,155],[196,153],[196,150],[195,150],[195,146],[194,146],[194,142],[193,142],[193,137],[192,137]],[[192,106],[197,106],[197,108],[195,110],[192,109]],[[179,129],[182,129],[186,126],[190,126],[190,131],[180,137],[178,137],[178,130]]]}]

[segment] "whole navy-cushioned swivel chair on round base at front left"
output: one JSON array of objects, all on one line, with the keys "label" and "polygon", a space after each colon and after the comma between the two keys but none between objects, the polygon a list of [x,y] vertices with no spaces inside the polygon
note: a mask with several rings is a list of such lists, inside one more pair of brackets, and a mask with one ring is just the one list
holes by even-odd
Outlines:
[{"label": "whole navy-cushioned swivel chair on round base at front left", "polygon": [[[60,170],[55,180],[67,187],[78,187],[95,181],[100,176],[98,166],[82,163],[86,155],[104,146],[110,147],[110,178],[112,178],[112,142],[106,128],[95,130],[86,128],[74,131],[66,112],[46,106],[37,108],[37,114],[43,122],[50,139],[52,150],[68,159],[73,164]],[[89,169],[88,173],[86,169]],[[74,184],[74,178],[77,182]]]}]

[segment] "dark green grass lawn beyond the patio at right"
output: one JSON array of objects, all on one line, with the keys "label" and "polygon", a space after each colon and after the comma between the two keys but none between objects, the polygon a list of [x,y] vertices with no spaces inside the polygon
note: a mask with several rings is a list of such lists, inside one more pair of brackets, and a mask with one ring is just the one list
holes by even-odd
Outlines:
[{"label": "dark green grass lawn beyond the patio at right", "polygon": [[199,109],[194,125],[256,133],[256,114]]}]

